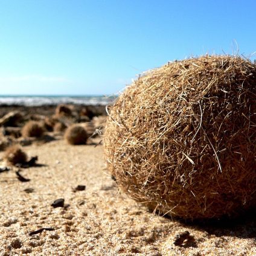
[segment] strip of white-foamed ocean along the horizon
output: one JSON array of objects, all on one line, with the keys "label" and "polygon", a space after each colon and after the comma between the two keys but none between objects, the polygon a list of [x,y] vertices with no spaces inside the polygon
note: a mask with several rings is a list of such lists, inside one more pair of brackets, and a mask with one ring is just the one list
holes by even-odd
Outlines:
[{"label": "strip of white-foamed ocean along the horizon", "polygon": [[116,96],[74,95],[0,95],[0,105],[43,106],[57,104],[112,104]]}]

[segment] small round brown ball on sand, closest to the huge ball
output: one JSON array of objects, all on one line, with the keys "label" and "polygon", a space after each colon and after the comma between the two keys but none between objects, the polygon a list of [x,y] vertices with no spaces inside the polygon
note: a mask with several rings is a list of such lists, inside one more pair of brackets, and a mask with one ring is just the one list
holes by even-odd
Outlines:
[{"label": "small round brown ball on sand, closest to the huge ball", "polygon": [[82,126],[73,124],[66,129],[65,139],[71,145],[86,144],[88,133]]}]

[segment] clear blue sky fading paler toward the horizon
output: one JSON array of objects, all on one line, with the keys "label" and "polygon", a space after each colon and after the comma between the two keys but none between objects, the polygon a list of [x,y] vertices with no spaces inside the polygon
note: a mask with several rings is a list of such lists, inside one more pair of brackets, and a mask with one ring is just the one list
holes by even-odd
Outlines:
[{"label": "clear blue sky fading paler toward the horizon", "polygon": [[0,4],[0,94],[115,94],[171,60],[256,51],[255,0]]}]

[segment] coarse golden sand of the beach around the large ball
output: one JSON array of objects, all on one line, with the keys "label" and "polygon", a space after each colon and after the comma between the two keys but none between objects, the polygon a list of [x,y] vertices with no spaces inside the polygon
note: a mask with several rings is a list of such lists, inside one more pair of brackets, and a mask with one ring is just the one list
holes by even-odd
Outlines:
[{"label": "coarse golden sand of the beach around the large ball", "polygon": [[[252,213],[212,223],[154,215],[120,193],[100,137],[71,146],[51,135],[53,141],[23,147],[29,157],[38,156],[37,166],[0,173],[1,256],[256,255]],[[18,169],[30,181],[19,181]],[[75,190],[78,185],[85,190]],[[64,205],[54,208],[56,199]]]}]

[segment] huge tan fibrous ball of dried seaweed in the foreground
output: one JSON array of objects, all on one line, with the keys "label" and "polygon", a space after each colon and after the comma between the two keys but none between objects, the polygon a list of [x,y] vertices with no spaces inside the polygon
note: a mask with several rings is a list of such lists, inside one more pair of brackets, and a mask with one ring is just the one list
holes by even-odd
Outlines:
[{"label": "huge tan fibrous ball of dried seaweed in the foreground", "polygon": [[203,56],[146,72],[104,135],[121,190],[162,214],[235,217],[256,206],[256,66]]}]

